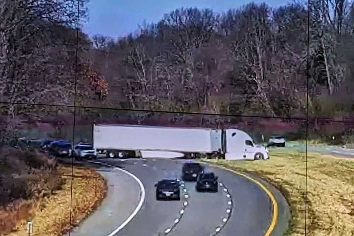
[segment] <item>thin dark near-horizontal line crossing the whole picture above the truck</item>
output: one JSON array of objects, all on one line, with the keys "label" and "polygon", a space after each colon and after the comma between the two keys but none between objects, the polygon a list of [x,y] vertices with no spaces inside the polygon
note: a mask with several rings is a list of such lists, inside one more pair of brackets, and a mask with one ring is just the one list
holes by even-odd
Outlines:
[{"label": "thin dark near-horizontal line crossing the whole picture above the truck", "polygon": [[[303,120],[306,118],[299,117],[271,117],[271,116],[258,116],[258,115],[231,115],[231,114],[212,114],[212,113],[199,113],[199,112],[176,112],[176,111],[161,111],[161,110],[144,110],[144,109],[129,109],[129,108],[113,108],[113,107],[92,107],[92,106],[75,106],[75,105],[56,105],[56,104],[45,104],[45,103],[24,103],[24,102],[0,102],[3,104],[16,104],[16,105],[26,105],[26,106],[52,106],[52,107],[67,107],[67,108],[83,108],[83,109],[101,109],[101,110],[112,110],[112,111],[126,111],[126,112],[153,112],[153,113],[166,113],[166,114],[186,114],[186,115],[197,115],[197,116],[220,116],[220,117],[241,117],[241,118],[268,118],[268,119],[289,119],[289,120]],[[320,119],[327,120],[330,122],[340,122],[340,123],[354,123],[352,121],[335,120],[332,118],[319,118],[313,117],[308,118],[309,120]]]}]

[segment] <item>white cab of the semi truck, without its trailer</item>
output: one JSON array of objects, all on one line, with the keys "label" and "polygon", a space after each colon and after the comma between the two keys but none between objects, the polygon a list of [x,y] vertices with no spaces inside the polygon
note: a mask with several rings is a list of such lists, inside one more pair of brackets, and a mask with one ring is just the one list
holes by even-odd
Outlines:
[{"label": "white cab of the semi truck, without its trailer", "polygon": [[266,160],[268,149],[257,145],[246,132],[238,129],[226,129],[224,134],[227,160]]}]

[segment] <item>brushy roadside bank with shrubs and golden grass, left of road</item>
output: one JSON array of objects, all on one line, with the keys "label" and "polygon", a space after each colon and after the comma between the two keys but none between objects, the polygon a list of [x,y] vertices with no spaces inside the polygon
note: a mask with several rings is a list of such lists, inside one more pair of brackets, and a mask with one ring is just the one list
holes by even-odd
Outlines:
[{"label": "brushy roadside bank with shrubs and golden grass, left of road", "polygon": [[89,167],[57,165],[45,154],[0,150],[0,235],[61,236],[105,197],[106,182]]}]

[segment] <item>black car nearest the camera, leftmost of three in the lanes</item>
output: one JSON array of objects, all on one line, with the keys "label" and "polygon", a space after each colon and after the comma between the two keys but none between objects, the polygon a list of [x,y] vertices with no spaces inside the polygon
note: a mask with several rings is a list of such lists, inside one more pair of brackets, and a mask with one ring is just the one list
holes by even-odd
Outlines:
[{"label": "black car nearest the camera, leftmost of three in the lanes", "polygon": [[156,200],[180,200],[179,182],[177,179],[162,179],[155,184]]}]

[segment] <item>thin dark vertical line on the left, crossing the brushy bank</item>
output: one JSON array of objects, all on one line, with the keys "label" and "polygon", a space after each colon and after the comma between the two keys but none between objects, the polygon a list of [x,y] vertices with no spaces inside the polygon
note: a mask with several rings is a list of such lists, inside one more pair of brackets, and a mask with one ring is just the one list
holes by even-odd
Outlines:
[{"label": "thin dark vertical line on the left, crossing the brushy bank", "polygon": [[[78,77],[78,52],[79,52],[79,18],[80,18],[80,1],[78,0],[77,28],[76,28],[76,50],[75,50],[75,89],[74,89],[74,117],[73,117],[73,135],[72,148],[74,148],[75,140],[75,117],[76,117],[76,88]],[[71,217],[72,217],[72,200],[73,200],[73,182],[74,182],[74,156],[71,155],[71,192],[70,192],[70,218],[69,218],[69,236],[71,235]]]}]

